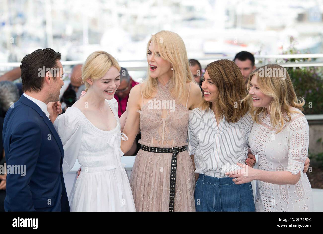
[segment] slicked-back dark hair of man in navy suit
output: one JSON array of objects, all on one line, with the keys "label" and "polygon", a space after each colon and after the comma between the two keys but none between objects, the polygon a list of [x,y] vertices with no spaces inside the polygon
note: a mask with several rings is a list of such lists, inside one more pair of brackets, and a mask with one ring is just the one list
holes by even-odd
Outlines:
[{"label": "slicked-back dark hair of man in navy suit", "polygon": [[[57,59],[61,58],[59,52],[55,52],[53,49],[37,49],[29,55],[25,55],[21,60],[21,80],[23,91],[40,91],[44,86],[44,77],[46,69],[58,68]],[[43,71],[43,77],[39,77],[39,68]]]}]

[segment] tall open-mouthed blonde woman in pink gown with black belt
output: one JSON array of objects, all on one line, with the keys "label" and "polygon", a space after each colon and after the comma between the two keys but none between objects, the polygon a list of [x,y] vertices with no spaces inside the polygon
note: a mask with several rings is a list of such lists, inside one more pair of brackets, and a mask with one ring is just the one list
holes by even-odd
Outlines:
[{"label": "tall open-mouthed blonde woman in pink gown with black belt", "polygon": [[189,110],[202,100],[193,82],[182,38],[170,31],[151,36],[146,81],[134,86],[123,133],[127,152],[141,130],[142,145],[130,185],[137,211],[195,211],[193,162],[186,150]]}]

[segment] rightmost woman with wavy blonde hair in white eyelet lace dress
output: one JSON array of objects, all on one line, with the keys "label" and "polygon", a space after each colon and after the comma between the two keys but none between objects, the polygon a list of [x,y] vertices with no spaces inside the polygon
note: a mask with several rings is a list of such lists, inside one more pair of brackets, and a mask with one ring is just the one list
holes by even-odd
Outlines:
[{"label": "rightmost woman with wavy blonde hair in white eyelet lace dress", "polygon": [[227,174],[236,184],[257,180],[256,211],[313,211],[311,185],[303,173],[309,132],[304,100],[297,98],[286,69],[277,64],[252,72],[248,88],[242,101],[253,102],[249,143],[259,156],[259,169],[240,165],[241,171]]}]

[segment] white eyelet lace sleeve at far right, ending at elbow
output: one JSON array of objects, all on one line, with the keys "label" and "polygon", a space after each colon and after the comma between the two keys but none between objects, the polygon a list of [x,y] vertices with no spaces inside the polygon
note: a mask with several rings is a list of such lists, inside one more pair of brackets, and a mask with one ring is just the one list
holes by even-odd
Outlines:
[{"label": "white eyelet lace sleeve at far right, ending at elbow", "polygon": [[304,163],[308,151],[308,123],[304,116],[295,119],[289,125],[288,166],[287,171],[303,176]]}]

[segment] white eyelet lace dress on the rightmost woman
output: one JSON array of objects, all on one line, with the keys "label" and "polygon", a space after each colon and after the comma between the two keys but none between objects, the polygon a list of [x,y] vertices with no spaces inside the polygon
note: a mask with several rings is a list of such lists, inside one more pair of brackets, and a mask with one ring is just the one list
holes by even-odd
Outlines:
[{"label": "white eyelet lace dress on the rightmost woman", "polygon": [[312,189],[307,175],[303,173],[308,150],[308,123],[304,115],[291,114],[291,121],[275,134],[270,115],[255,123],[249,136],[250,148],[259,156],[259,169],[266,171],[290,171],[301,178],[296,185],[278,185],[256,181],[256,211],[313,211]]}]

